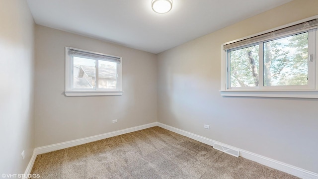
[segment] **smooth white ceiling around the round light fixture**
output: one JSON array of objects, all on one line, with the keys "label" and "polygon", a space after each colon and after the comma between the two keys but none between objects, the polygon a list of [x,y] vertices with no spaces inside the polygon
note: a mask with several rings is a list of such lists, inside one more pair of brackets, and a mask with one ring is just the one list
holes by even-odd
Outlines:
[{"label": "smooth white ceiling around the round light fixture", "polygon": [[158,54],[292,0],[27,0],[36,24]]}]

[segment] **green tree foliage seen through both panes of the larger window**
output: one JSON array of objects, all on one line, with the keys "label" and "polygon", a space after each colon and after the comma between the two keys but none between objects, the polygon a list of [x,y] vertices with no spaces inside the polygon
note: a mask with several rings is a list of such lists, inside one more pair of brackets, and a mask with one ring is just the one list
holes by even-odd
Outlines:
[{"label": "green tree foliage seen through both panes of the larger window", "polygon": [[[264,86],[308,84],[308,32],[263,44]],[[254,45],[230,51],[231,87],[258,86],[258,80],[255,80],[259,72],[258,48]]]}]

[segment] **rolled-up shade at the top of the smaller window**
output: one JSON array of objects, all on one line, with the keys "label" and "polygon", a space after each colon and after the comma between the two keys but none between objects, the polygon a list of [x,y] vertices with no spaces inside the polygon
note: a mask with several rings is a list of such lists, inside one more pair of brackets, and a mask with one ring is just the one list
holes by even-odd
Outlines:
[{"label": "rolled-up shade at the top of the smaller window", "polygon": [[120,58],[118,57],[112,57],[108,55],[103,54],[97,54],[97,53],[91,53],[91,52],[85,52],[77,49],[70,48],[69,55],[74,57],[80,57],[80,58],[86,58],[86,59],[92,59],[92,60],[105,60],[109,62],[116,62],[120,63]]}]

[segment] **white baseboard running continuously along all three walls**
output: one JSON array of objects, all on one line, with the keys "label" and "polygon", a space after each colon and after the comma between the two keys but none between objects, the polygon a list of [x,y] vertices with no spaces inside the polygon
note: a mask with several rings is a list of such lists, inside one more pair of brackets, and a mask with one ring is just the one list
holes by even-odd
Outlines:
[{"label": "white baseboard running continuously along all three walls", "polygon": [[94,142],[97,140],[102,140],[102,139],[106,139],[106,138],[110,138],[110,137],[114,137],[114,136],[118,136],[118,135],[122,135],[122,134],[127,134],[130,132],[135,132],[135,131],[139,131],[139,130],[143,130],[143,129],[147,129],[150,127],[155,127],[155,126],[159,126],[162,127],[164,129],[167,129],[169,131],[175,132],[177,134],[189,137],[191,139],[194,139],[196,141],[202,142],[204,144],[213,146],[214,143],[218,143],[222,146],[225,147],[229,147],[235,150],[239,150],[239,156],[246,158],[248,160],[251,161],[255,161],[259,164],[262,164],[264,166],[291,174],[293,176],[302,178],[302,179],[318,179],[318,174],[310,172],[310,171],[306,171],[304,169],[295,167],[295,166],[291,166],[279,161],[275,161],[273,159],[269,159],[267,157],[263,157],[227,144],[223,144],[221,142],[197,135],[197,134],[193,134],[191,132],[187,132],[169,125],[165,125],[162,124],[160,122],[154,122],[154,123],[150,123],[150,124],[145,124],[145,125],[141,125],[141,126],[136,126],[136,127],[131,127],[131,128],[127,128],[127,129],[123,129],[123,130],[118,130],[118,131],[114,131],[114,132],[109,132],[109,133],[105,133],[105,134],[100,134],[100,135],[95,135],[95,136],[91,136],[91,137],[86,137],[86,138],[82,138],[82,139],[77,139],[77,140],[72,140],[72,141],[67,141],[67,142],[62,142],[62,143],[58,143],[58,144],[53,144],[53,145],[48,145],[48,146],[43,146],[43,147],[37,147],[34,149],[33,155],[31,157],[31,160],[25,170],[25,176],[27,174],[31,173],[34,161],[36,159],[36,156],[39,154],[44,154],[44,153],[48,153],[48,152],[52,152],[52,151],[56,151],[56,150],[61,150],[61,149],[65,149],[65,148],[69,148],[69,147],[74,147],[77,145],[81,145],[81,144],[86,144],[89,142]]}]

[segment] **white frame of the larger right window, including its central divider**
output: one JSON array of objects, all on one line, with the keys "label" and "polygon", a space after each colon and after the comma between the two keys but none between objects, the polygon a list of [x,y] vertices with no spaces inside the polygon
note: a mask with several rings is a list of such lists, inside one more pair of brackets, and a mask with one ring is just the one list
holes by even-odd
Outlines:
[{"label": "white frame of the larger right window, including its central divider", "polygon": [[[272,87],[263,87],[263,79],[261,78],[261,76],[259,76],[259,87],[238,87],[238,88],[230,88],[229,84],[230,84],[230,78],[229,78],[229,72],[228,69],[230,68],[229,66],[229,62],[228,62],[228,50],[224,49],[224,46],[226,44],[231,44],[234,42],[239,42],[245,39],[249,39],[252,37],[256,37],[262,34],[266,34],[266,33],[270,33],[279,29],[284,29],[286,27],[290,27],[296,24],[300,24],[303,22],[307,22],[313,19],[317,19],[318,15],[313,16],[313,17],[309,17],[303,20],[299,20],[290,24],[286,24],[274,29],[270,29],[264,32],[260,32],[248,37],[244,37],[244,38],[240,38],[234,41],[230,41],[227,43],[224,43],[221,45],[221,90],[220,93],[222,96],[246,96],[246,97],[296,97],[296,98],[318,98],[318,62],[316,62],[317,59],[317,55],[318,54],[318,31],[317,29],[315,30],[309,30],[312,31],[309,33],[309,46],[312,46],[311,49],[313,49],[312,52],[309,52],[309,54],[313,54],[313,62],[309,62],[312,63],[311,65],[309,65],[309,84],[308,86],[272,86]],[[303,32],[306,32],[308,30],[304,30]],[[295,33],[286,33],[284,34],[284,36],[279,36],[279,37],[275,37],[273,39],[266,39],[266,40],[261,40],[258,42],[264,42],[264,41],[270,41],[270,40],[275,40],[278,38],[282,38],[282,37],[286,37],[286,36],[291,36]],[[297,34],[297,33],[296,33]],[[263,45],[263,43],[252,43],[246,46],[252,46],[255,44],[261,44]],[[239,46],[236,49],[241,49],[244,46]],[[261,49],[261,46],[260,48]],[[309,48],[310,49],[310,48]],[[262,56],[263,52],[259,53],[259,56]],[[259,74],[263,74],[263,64],[259,63]],[[263,76],[263,75],[262,75]]]}]

